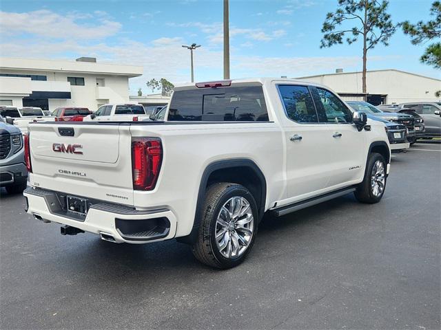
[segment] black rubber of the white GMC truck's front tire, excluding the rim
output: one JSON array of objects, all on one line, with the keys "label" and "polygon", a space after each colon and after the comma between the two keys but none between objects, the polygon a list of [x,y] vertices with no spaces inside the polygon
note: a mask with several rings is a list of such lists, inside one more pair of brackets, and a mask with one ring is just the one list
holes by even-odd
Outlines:
[{"label": "black rubber of the white GMC truck's front tire, excluding the rim", "polygon": [[[371,186],[372,183],[372,171],[376,162],[382,162],[384,168],[384,186],[382,192],[379,195],[376,195]],[[371,153],[369,158],[367,159],[367,166],[365,170],[365,177],[363,178],[362,183],[357,187],[357,190],[353,193],[356,196],[356,199],[361,203],[378,203],[384,195],[384,190],[386,189],[387,182],[387,164],[384,160],[384,157],[380,155],[380,153]]]}]

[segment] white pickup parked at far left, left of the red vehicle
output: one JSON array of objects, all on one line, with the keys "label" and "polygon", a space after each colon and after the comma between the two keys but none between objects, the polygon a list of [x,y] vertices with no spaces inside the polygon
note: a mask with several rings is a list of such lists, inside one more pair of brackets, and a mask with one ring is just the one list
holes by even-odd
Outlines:
[{"label": "white pickup parked at far left, left of the red vehicle", "polygon": [[52,122],[54,117],[49,117],[43,113],[43,110],[38,107],[17,107],[0,106],[0,115],[8,120],[10,124],[17,126],[21,133],[28,132],[30,122]]}]

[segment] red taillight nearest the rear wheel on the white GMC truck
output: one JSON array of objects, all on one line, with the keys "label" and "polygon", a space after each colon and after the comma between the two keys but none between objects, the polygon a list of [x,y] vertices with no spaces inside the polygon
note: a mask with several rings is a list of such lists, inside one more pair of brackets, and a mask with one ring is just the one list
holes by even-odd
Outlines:
[{"label": "red taillight nearest the rear wheel on the white GMC truck", "polygon": [[163,160],[163,146],[158,137],[132,139],[132,177],[134,190],[153,190]]}]

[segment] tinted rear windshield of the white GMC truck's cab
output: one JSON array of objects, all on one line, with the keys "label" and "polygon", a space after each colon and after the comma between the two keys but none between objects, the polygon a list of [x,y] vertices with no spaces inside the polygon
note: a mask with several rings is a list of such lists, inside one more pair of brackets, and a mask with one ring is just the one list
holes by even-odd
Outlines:
[{"label": "tinted rear windshield of the white GMC truck's cab", "polygon": [[268,121],[261,86],[220,87],[175,91],[168,120]]}]

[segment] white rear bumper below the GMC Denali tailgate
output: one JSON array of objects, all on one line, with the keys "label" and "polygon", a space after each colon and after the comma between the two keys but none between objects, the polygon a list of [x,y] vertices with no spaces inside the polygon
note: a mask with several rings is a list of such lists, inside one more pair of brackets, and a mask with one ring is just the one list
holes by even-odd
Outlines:
[{"label": "white rear bumper below the GMC Denali tailgate", "polygon": [[[155,241],[165,241],[174,238],[176,234],[176,217],[171,210],[134,210],[119,204],[97,203],[93,204],[85,219],[74,219],[57,208],[57,196],[51,190],[27,188],[23,195],[27,201],[27,210],[29,214],[45,222],[51,221],[63,225],[69,225],[93,234],[111,236],[115,243],[150,243]],[[127,234],[127,222],[132,223],[134,228],[145,221],[167,222],[167,230],[164,235],[157,235],[158,238],[143,239],[139,232]],[[124,223],[124,228],[118,228],[116,223]],[[147,230],[145,230],[147,232]],[[102,236],[103,237],[103,236]]]}]

